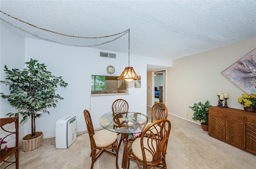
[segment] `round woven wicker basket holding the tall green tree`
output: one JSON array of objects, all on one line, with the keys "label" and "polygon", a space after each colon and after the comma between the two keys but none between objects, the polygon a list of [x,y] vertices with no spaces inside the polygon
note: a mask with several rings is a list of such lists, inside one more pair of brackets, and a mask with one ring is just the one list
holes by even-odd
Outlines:
[{"label": "round woven wicker basket holding the tall green tree", "polygon": [[22,138],[21,139],[22,151],[28,152],[28,151],[33,151],[35,149],[38,149],[42,145],[42,141],[43,141],[43,134],[30,140],[24,140]]}]

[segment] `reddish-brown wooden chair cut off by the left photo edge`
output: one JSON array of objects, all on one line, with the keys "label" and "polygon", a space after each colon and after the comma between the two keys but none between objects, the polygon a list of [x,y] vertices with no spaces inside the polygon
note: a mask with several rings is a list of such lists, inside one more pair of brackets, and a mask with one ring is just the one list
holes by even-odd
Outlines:
[{"label": "reddish-brown wooden chair cut off by the left photo edge", "polygon": [[[8,123],[14,123],[14,127],[15,127],[15,131],[8,131],[6,129],[4,129],[4,125],[8,124]],[[6,137],[8,137],[9,135],[15,134],[15,147],[8,147],[8,151],[4,151],[1,150],[1,163],[2,161],[10,163],[9,165],[15,163],[16,164],[16,169],[19,168],[19,145],[18,145],[18,140],[19,140],[19,117],[9,117],[9,118],[1,118],[0,119],[0,125],[1,125],[1,129],[5,132],[7,132],[8,135],[6,135]],[[6,138],[4,137],[3,140]],[[8,146],[8,143],[7,143]],[[2,148],[2,147],[1,147]],[[15,153],[15,161],[5,161],[5,159],[12,155],[13,153]],[[9,166],[8,165],[8,166]],[[6,166],[6,167],[8,167]]]}]

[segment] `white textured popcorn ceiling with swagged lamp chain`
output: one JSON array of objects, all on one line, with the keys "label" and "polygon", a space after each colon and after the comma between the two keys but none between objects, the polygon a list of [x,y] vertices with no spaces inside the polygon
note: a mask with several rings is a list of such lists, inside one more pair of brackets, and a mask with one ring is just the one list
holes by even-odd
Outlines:
[{"label": "white textured popcorn ceiling with swagged lamp chain", "polygon": [[[130,54],[170,60],[256,37],[255,0],[1,0],[0,10],[40,28],[74,36],[106,36],[130,28]],[[72,46],[116,38],[70,38],[0,16],[28,38]],[[128,34],[92,48],[128,53]]]}]

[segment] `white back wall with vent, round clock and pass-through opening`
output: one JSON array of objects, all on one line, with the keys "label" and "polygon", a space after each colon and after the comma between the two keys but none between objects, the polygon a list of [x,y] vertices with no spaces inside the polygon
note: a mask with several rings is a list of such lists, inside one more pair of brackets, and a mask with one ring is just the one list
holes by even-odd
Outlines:
[{"label": "white back wall with vent, round clock and pass-through opening", "polygon": [[[91,75],[106,75],[106,66],[113,65],[119,76],[128,66],[128,54],[103,51],[93,48],[66,46],[43,40],[25,39],[25,60],[30,58],[44,63],[48,71],[55,76],[62,76],[69,85],[66,89],[59,88],[58,93],[64,97],[57,107],[49,109],[50,115],[45,114],[36,120],[36,130],[44,132],[44,137],[55,135],[55,124],[58,119],[66,115],[76,115],[77,130],[86,129],[83,110],[90,110],[94,127],[100,127],[99,118],[111,111],[111,105],[118,98],[126,99],[131,109],[146,110],[146,65],[155,63],[170,66],[170,60],[158,60],[142,56],[130,55],[130,66],[142,76],[142,87],[134,88],[134,82],[129,83],[129,95],[92,96]],[[100,58],[99,53],[116,53],[117,58]],[[132,52],[131,52],[132,53]],[[149,63],[150,62],[150,63]],[[47,125],[46,125],[47,124]],[[26,125],[30,125],[30,121]],[[30,133],[29,130],[25,133]]]}]

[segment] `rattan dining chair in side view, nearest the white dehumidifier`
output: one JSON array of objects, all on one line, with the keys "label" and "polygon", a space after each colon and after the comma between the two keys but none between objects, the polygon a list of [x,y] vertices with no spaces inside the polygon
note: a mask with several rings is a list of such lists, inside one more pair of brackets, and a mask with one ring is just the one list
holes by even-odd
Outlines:
[{"label": "rattan dining chair in side view, nearest the white dehumidifier", "polygon": [[[91,154],[90,154],[90,156],[92,157],[91,169],[93,168],[95,161],[104,152],[116,156],[116,168],[118,169],[117,133],[109,131],[107,129],[103,129],[95,133],[92,125],[91,115],[89,111],[86,109],[84,110],[84,118],[86,121],[87,130],[88,130],[88,134],[91,142]],[[112,150],[112,152],[108,151],[108,149]]]}]

